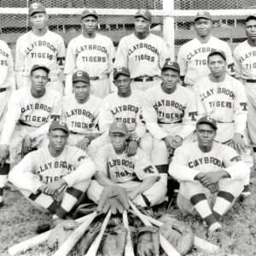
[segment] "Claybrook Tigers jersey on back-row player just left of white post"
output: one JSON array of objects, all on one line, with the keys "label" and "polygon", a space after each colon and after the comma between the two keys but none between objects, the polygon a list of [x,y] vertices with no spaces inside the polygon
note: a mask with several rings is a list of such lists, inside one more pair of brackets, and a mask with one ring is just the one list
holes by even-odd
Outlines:
[{"label": "Claybrook Tigers jersey on back-row player just left of white post", "polygon": [[127,67],[131,79],[160,76],[167,58],[169,55],[162,38],[149,33],[147,38],[139,39],[133,33],[120,40],[114,67]]}]

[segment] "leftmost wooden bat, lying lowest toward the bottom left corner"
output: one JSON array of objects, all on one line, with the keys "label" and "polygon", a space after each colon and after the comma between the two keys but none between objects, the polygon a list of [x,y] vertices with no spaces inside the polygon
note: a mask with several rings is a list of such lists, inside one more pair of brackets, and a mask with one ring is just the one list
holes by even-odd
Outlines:
[{"label": "leftmost wooden bat, lying lowest toward the bottom left corner", "polygon": [[[88,218],[90,218],[91,214],[93,214],[93,212],[84,217],[76,219],[76,221],[78,223],[83,223]],[[20,253],[21,251],[26,251],[27,249],[29,249],[31,247],[35,247],[38,244],[43,243],[44,241],[46,241],[48,239],[50,232],[51,232],[51,230],[48,230],[38,236],[33,236],[32,238],[29,238],[25,241],[21,241],[20,243],[17,243],[14,246],[9,247],[9,249],[8,249],[9,255],[13,256],[16,253]]]}]

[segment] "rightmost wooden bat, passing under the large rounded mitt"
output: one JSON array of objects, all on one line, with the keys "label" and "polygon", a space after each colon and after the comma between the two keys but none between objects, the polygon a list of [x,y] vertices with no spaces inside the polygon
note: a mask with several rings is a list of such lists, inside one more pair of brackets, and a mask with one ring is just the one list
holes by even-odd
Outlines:
[{"label": "rightmost wooden bat, passing under the large rounded mitt", "polygon": [[[133,214],[136,214],[134,211],[130,211],[130,212]],[[150,216],[144,215],[144,217],[147,218],[149,222],[151,222],[152,224],[158,227],[160,227],[163,224],[161,221],[155,218],[152,218]],[[213,244],[212,242],[206,241],[198,236],[195,236],[194,238],[194,246],[203,251],[206,251],[207,253],[217,253],[219,250],[219,247],[217,245]]]}]

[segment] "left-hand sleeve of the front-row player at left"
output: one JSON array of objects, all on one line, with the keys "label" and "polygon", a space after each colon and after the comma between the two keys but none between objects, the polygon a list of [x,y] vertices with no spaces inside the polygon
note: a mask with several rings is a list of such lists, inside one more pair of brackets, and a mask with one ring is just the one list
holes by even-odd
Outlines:
[{"label": "left-hand sleeve of the front-row player at left", "polygon": [[40,181],[40,177],[33,170],[34,159],[37,159],[34,152],[26,154],[20,163],[9,172],[9,181],[18,189],[26,189],[36,194],[38,188],[44,183]]}]

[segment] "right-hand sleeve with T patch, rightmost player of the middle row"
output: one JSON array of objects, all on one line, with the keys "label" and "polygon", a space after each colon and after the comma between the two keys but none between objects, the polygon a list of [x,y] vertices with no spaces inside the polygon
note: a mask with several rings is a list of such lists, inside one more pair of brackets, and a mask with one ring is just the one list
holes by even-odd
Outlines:
[{"label": "right-hand sleeve with T patch, rightmost player of the middle row", "polygon": [[235,82],[236,95],[234,101],[234,121],[236,124],[236,132],[243,135],[247,127],[247,96],[243,84],[238,80],[235,80]]}]

